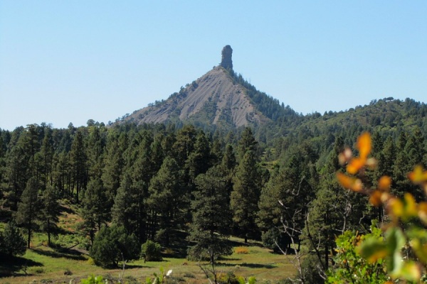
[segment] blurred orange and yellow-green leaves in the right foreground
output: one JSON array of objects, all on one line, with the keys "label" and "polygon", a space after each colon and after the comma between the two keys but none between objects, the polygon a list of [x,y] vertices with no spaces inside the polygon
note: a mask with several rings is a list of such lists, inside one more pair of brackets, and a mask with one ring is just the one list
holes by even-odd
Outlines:
[{"label": "blurred orange and yellow-green leaves in the right foreground", "polygon": [[[400,136],[399,148],[403,148],[406,138]],[[343,187],[369,195],[369,202],[387,209],[389,224],[384,227],[384,237],[379,234],[369,236],[359,244],[359,253],[369,263],[384,260],[387,276],[394,279],[417,282],[425,273],[427,263],[426,246],[427,202],[416,202],[409,192],[403,198],[390,194],[391,178],[381,176],[376,187],[369,188],[366,170],[375,165],[371,152],[371,136],[363,133],[357,140],[359,156],[350,153],[340,155],[342,163],[347,163],[347,175],[337,173]],[[421,151],[418,149],[418,151]],[[348,152],[347,152],[348,153]],[[416,165],[408,178],[413,185],[420,185],[427,192],[427,171]],[[362,182],[363,181],[363,182]]]}]

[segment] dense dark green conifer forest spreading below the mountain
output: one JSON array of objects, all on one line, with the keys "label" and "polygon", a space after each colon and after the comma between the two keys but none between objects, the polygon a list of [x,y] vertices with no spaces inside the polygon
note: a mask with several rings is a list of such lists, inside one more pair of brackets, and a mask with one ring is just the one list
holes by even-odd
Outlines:
[{"label": "dense dark green conifer forest spreading below the mountain", "polygon": [[[36,231],[51,245],[63,234],[59,205],[73,204],[82,218],[73,234],[86,240],[83,249],[98,266],[139,258],[147,241],[163,249],[185,243],[189,259],[214,263],[231,253],[229,236],[240,236],[271,249],[277,243],[283,251],[317,251],[303,261],[305,278],[316,279],[331,265],[338,234],[364,233],[372,219],[384,220],[367,197],[339,185],[339,153],[370,131],[379,166],[369,176],[389,175],[391,192],[421,200],[406,175],[413,165],[427,165],[427,107],[389,98],[339,113],[288,112],[269,127],[228,133],[190,124],[105,126],[92,120],[79,128],[2,130],[1,221],[13,220],[8,230],[19,226],[28,248]],[[109,258],[102,251],[114,236],[120,241]]]}]

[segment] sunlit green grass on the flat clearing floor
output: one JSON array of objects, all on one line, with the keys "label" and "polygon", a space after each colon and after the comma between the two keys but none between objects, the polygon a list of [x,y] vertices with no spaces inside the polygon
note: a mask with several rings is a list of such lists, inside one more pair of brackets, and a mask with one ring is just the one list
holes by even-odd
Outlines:
[{"label": "sunlit green grass on the flat clearing floor", "polygon": [[[241,242],[239,239],[233,241]],[[239,244],[245,246],[245,244]],[[247,254],[233,253],[231,256],[221,258],[217,263],[218,273],[232,271],[236,275],[245,277],[255,276],[258,283],[270,280],[280,280],[292,277],[295,267],[290,263],[292,256],[283,256],[271,253],[258,243],[246,246]],[[36,246],[26,251],[22,258],[16,258],[14,265],[2,265],[4,268],[13,268],[14,276],[0,278],[0,283],[70,283],[74,279],[79,282],[88,275],[102,275],[104,278],[117,279],[122,273],[121,269],[103,269],[91,264],[88,256],[82,254],[63,253],[46,246]],[[14,262],[15,262],[14,261]],[[24,266],[27,263],[26,275]],[[140,283],[144,283],[147,277],[153,273],[159,273],[159,268],[172,269],[176,278],[185,279],[186,283],[206,283],[204,273],[198,263],[187,261],[185,258],[164,258],[161,262],[146,262],[143,260],[127,263],[125,276],[132,276]],[[65,275],[65,271],[71,271],[72,275]],[[190,277],[186,277],[190,276]]]}]

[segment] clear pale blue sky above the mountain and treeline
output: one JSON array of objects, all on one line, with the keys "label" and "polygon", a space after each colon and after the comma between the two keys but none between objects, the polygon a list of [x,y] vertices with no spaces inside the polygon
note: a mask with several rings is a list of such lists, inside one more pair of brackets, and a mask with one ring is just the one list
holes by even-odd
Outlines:
[{"label": "clear pale blue sky above the mountain and treeline", "polygon": [[0,0],[0,128],[115,121],[233,48],[233,69],[303,114],[427,101],[427,1]]}]

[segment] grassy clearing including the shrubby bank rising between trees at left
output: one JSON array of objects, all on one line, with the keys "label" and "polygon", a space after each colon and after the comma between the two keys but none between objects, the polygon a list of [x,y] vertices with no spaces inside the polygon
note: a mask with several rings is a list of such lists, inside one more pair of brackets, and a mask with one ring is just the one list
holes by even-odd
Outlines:
[{"label": "grassy clearing including the shrubby bank rising between trees at left", "polygon": [[[24,256],[14,258],[13,261],[0,260],[0,284],[70,283],[70,281],[79,283],[80,279],[87,278],[88,275],[102,275],[106,279],[117,280],[123,273],[122,269],[97,267],[93,265],[93,261],[85,251],[65,249],[84,242],[81,236],[75,234],[80,221],[81,218],[75,208],[70,204],[63,204],[59,222],[63,233],[55,238],[56,246],[47,247],[47,236],[35,234],[31,241],[31,249],[28,249]],[[272,253],[255,241],[244,244],[242,239],[234,237],[231,241],[236,248],[235,252],[218,260],[216,267],[218,273],[231,271],[244,277],[255,276],[258,283],[276,283],[278,280],[295,275],[295,267],[291,263],[293,256]],[[167,256],[171,254],[168,253]],[[180,283],[207,283],[199,263],[187,261],[183,253],[165,257],[161,262],[144,263],[143,260],[139,260],[127,263],[125,281],[137,280],[139,283],[145,283],[146,278],[152,278],[153,273],[159,273],[161,267],[166,271],[172,269],[174,278]]]}]

